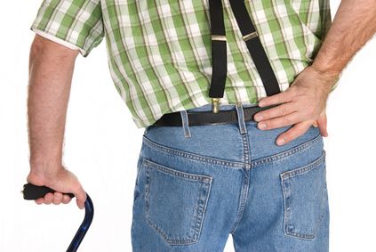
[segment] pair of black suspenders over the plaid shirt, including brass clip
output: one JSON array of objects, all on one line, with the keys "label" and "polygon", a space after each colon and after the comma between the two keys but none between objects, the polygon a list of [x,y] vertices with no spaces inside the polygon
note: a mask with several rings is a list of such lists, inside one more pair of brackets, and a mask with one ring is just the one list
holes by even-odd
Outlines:
[{"label": "pair of black suspenders over the plaid shirt, including brass clip", "polygon": [[[252,24],[244,1],[229,0],[229,3],[267,95],[280,93],[276,75],[270,66],[267,53],[265,53],[256,28]],[[223,97],[227,76],[226,31],[221,0],[209,0],[209,10],[212,28],[212,83],[209,97],[212,98],[213,112],[216,113],[220,98]]]}]

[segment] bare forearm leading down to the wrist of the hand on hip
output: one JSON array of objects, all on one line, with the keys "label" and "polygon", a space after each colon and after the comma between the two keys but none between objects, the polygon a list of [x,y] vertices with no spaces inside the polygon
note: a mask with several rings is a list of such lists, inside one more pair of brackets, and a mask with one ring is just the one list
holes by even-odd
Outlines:
[{"label": "bare forearm leading down to the wrist of the hand on hip", "polygon": [[339,76],[351,58],[376,32],[376,0],[342,0],[313,67]]}]

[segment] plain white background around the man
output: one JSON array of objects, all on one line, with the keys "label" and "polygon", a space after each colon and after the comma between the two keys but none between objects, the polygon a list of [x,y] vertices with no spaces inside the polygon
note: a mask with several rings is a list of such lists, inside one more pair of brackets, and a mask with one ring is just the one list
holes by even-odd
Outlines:
[{"label": "plain white background around the man", "polygon": [[[332,1],[332,13],[340,1]],[[22,199],[28,175],[29,30],[41,1],[3,1],[0,15],[0,251],[65,251],[84,217],[76,204]],[[80,251],[132,251],[132,195],[143,129],[108,74],[103,42],[78,56],[68,105],[64,163],[92,196],[95,217]],[[357,53],[329,97],[327,182],[333,252],[376,251],[375,54]],[[74,201],[72,201],[74,202]],[[225,251],[234,251],[231,237]]]}]

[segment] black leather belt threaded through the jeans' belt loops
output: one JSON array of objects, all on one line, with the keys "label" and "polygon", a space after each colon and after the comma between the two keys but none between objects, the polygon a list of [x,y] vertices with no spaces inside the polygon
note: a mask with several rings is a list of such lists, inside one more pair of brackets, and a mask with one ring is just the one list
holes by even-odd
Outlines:
[{"label": "black leather belt threaded through the jeans' belt loops", "polygon": [[[245,107],[244,121],[253,120],[254,114],[261,110],[268,110],[276,105],[268,107]],[[220,125],[237,123],[236,110],[220,110],[218,113],[212,111],[187,111],[189,126]],[[182,126],[180,111],[164,114],[152,126]]]}]

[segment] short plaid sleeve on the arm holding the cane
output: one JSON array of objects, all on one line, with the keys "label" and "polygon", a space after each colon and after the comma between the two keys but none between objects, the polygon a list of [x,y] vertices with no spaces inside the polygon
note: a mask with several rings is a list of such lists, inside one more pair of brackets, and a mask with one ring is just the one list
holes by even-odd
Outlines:
[{"label": "short plaid sleeve on the arm holding the cane", "polygon": [[44,0],[31,29],[86,57],[104,37],[100,0]]}]

